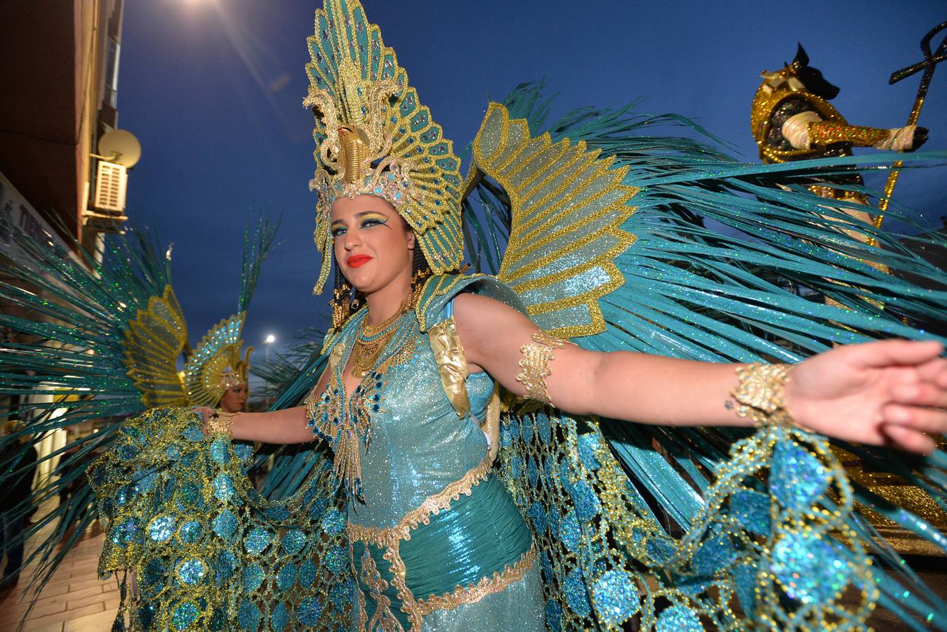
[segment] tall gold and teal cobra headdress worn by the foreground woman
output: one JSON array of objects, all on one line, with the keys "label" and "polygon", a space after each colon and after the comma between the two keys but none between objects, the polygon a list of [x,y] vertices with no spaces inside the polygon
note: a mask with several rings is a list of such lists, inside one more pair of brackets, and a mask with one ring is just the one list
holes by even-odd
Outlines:
[{"label": "tall gold and teal cobra headdress worn by the foreground woman", "polygon": [[313,108],[316,169],[310,189],[318,193],[315,244],[322,267],[320,293],[331,266],[332,202],[342,196],[384,198],[414,230],[437,273],[459,267],[460,161],[430,110],[420,104],[359,2],[327,0],[315,12],[308,39],[312,62],[304,105]]}]

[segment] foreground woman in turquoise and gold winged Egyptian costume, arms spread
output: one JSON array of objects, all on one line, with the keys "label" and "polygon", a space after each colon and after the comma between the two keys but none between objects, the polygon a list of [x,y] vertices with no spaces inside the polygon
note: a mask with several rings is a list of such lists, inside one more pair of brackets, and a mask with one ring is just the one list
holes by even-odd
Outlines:
[{"label": "foreground woman in turquoise and gold winged Egyptian costume, arms spread", "polygon": [[[804,178],[831,163],[743,165],[635,135],[655,120],[627,110],[540,133],[527,86],[490,104],[463,178],[357,2],[327,2],[309,44],[333,329],[282,409],[162,407],[118,429],[89,476],[100,571],[136,576],[120,615],[177,630],[860,629],[882,602],[947,621],[912,575],[873,567],[867,549],[897,557],[855,502],[942,538],[853,487],[815,434],[933,450],[937,341],[819,352],[922,337],[902,317],[944,316],[943,292],[869,263],[944,274],[884,233],[884,250],[849,239],[842,212],[826,220]],[[465,244],[481,272],[459,273]],[[851,309],[765,280],[777,273]],[[231,439],[319,441],[258,491]],[[941,500],[939,452],[845,445]]]}]

